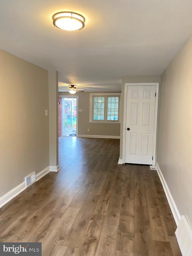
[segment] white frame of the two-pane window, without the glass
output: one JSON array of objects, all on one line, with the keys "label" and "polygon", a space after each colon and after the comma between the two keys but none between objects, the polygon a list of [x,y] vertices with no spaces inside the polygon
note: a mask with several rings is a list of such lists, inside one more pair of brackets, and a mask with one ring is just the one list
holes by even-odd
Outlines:
[{"label": "white frame of the two-pane window, without the glass", "polygon": [[[94,120],[94,97],[104,97],[104,120]],[[107,120],[107,107],[108,107],[108,97],[118,97],[118,120]],[[106,124],[120,124],[120,106],[121,106],[121,93],[120,92],[111,92],[111,93],[90,93],[90,114],[89,122],[90,123],[106,123]]]}]

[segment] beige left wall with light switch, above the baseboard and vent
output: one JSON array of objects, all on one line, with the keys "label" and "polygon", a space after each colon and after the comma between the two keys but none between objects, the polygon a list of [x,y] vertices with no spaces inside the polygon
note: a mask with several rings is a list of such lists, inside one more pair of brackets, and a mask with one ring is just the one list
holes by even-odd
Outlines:
[{"label": "beige left wall with light switch, above the baseboard and vent", "polygon": [[0,50],[0,196],[49,166],[48,71]]}]

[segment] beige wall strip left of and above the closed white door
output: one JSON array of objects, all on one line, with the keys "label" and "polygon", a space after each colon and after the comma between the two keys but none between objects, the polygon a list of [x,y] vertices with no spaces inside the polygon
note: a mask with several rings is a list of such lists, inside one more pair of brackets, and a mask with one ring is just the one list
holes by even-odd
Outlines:
[{"label": "beige wall strip left of and above the closed white door", "polygon": [[123,115],[124,115],[124,92],[125,92],[125,84],[126,83],[152,83],[152,82],[159,82],[160,83],[161,77],[160,76],[125,76],[122,78],[122,92],[121,92],[121,128],[120,128],[120,156],[119,158],[122,159],[123,157]]}]

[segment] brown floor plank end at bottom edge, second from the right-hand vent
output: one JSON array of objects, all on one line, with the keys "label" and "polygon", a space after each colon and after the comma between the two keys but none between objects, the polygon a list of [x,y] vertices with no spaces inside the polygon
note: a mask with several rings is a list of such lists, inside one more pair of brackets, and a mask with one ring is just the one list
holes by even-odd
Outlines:
[{"label": "brown floor plank end at bottom edge, second from the right-hand vent", "polygon": [[153,241],[154,256],[174,256],[170,242]]}]

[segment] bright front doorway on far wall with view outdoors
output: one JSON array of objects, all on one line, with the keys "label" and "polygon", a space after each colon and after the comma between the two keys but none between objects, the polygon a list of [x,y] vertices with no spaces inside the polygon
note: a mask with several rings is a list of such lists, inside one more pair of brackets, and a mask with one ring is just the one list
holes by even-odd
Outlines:
[{"label": "bright front doorway on far wall with view outdoors", "polygon": [[76,98],[59,98],[59,136],[76,136],[77,100]]}]

